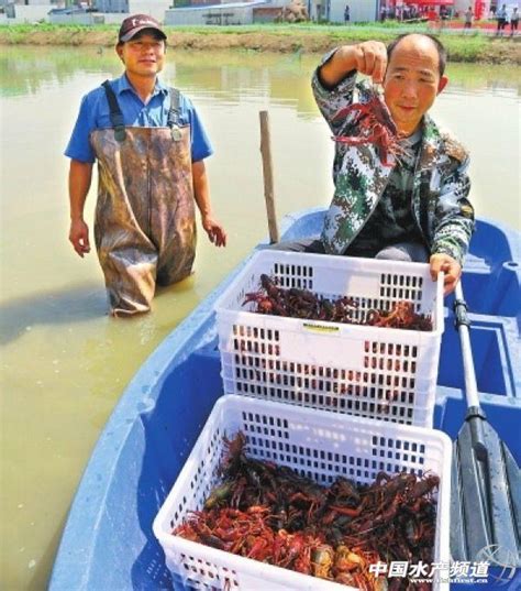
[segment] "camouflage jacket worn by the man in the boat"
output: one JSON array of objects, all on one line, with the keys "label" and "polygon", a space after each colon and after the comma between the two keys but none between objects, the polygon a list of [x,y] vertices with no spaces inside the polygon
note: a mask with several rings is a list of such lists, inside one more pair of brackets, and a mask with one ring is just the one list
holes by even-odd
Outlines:
[{"label": "camouflage jacket worn by the man in the boat", "polygon": [[[348,117],[340,121],[333,118],[354,101],[367,102],[372,92],[368,83],[356,83],[354,73],[326,90],[315,72],[312,88],[334,135],[358,135]],[[412,215],[431,254],[446,253],[459,263],[474,230],[474,209],[467,199],[468,165],[466,150],[425,114],[413,178]],[[342,254],[353,242],[376,209],[391,169],[392,166],[384,166],[373,144],[354,146],[336,142],[335,191],[321,236],[326,253]]]}]

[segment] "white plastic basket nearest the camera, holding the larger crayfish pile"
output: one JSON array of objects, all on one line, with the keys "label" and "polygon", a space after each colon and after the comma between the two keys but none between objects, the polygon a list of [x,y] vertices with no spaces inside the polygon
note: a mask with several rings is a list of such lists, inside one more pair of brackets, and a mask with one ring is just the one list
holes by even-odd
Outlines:
[{"label": "white plastic basket nearest the camera, holding the larger crayfish pile", "polygon": [[[337,475],[373,482],[381,470],[440,477],[434,561],[448,563],[451,453],[437,430],[392,425],[243,396],[215,404],[179,478],[154,521],[154,534],[176,582],[195,589],[325,591],[352,588],[235,556],[171,534],[189,511],[201,510],[218,483],[223,436],[243,431],[248,456],[288,466],[320,484]],[[439,578],[433,589],[448,589]]]}]

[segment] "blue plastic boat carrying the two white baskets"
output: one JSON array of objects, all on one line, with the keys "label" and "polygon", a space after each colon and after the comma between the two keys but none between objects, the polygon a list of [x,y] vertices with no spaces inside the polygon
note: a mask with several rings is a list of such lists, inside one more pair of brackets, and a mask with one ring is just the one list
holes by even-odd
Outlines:
[{"label": "blue plastic boat carrying the two white baskets", "polygon": [[[317,236],[323,216],[318,208],[286,217],[282,239]],[[520,245],[518,232],[479,219],[463,277],[481,406],[518,464]],[[124,392],[71,505],[51,591],[177,588],[152,524],[222,395],[213,308],[242,266],[163,341]],[[454,439],[466,403],[451,299],[445,302],[434,427]]]}]

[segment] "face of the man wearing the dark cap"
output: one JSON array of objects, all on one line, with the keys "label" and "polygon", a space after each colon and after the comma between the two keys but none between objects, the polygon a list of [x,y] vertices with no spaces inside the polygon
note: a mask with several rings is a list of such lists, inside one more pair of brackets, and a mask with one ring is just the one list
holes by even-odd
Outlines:
[{"label": "face of the man wearing the dark cap", "polygon": [[[149,31],[149,30],[148,30]],[[146,30],[117,46],[126,72],[134,76],[155,77],[164,66],[165,42]]]}]

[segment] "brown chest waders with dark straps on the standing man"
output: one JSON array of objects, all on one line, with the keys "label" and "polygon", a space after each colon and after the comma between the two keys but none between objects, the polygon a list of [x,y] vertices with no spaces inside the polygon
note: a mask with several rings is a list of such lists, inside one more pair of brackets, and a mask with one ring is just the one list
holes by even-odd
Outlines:
[{"label": "brown chest waders with dark straps on the standing man", "polygon": [[125,127],[118,99],[103,84],[111,129],[90,142],[98,160],[95,240],[111,313],[148,311],[156,283],[191,273],[196,218],[190,127],[179,127],[179,92],[170,88],[166,128]]}]

